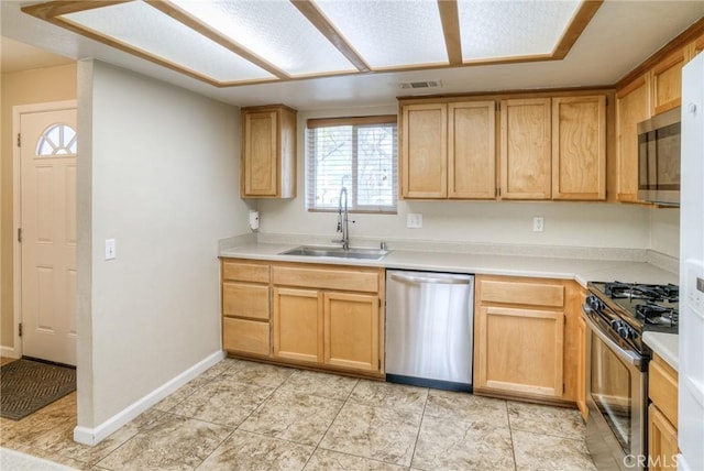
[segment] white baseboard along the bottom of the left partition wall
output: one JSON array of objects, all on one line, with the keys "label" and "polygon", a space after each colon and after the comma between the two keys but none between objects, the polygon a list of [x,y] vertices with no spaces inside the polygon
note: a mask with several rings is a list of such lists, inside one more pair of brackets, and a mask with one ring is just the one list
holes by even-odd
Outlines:
[{"label": "white baseboard along the bottom of the left partition wall", "polygon": [[213,364],[218,363],[223,358],[224,352],[221,350],[212,353],[205,360],[196,363],[173,380],[169,380],[166,383],[162,384],[156,390],[152,391],[141,399],[132,403],[131,405],[120,410],[118,414],[113,415],[108,420],[103,421],[95,428],[76,426],[76,428],[74,428],[74,440],[82,445],[98,445],[100,441],[105,440],[111,434],[117,431],[120,427],[136,418],[140,414],[157,404],[164,397],[168,396],[180,386],[188,383],[190,380],[198,376],[200,373],[208,370]]}]

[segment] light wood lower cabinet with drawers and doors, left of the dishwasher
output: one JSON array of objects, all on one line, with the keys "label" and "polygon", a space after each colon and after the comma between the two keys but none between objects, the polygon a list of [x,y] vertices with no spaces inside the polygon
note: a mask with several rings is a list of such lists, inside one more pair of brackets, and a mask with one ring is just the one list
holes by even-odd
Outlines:
[{"label": "light wood lower cabinet with drawers and doors, left of the dishwasher", "polygon": [[383,269],[226,259],[222,273],[229,353],[384,376]]}]

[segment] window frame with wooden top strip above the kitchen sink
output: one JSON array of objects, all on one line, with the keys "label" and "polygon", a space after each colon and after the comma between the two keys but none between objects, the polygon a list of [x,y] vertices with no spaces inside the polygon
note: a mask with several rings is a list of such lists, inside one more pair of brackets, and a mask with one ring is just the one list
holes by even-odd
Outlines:
[{"label": "window frame with wooden top strip above the kitchen sink", "polygon": [[[358,152],[356,152],[356,136],[358,136],[358,127],[370,127],[374,124],[395,124],[396,129],[394,131],[394,143],[393,143],[393,167],[392,167],[392,186],[393,186],[393,197],[394,202],[391,206],[376,207],[380,209],[371,209],[369,206],[358,205],[359,191],[359,172],[358,172]],[[348,188],[352,190],[348,194],[350,195],[350,205],[349,212],[354,213],[370,213],[370,215],[397,215],[398,213],[398,117],[397,114],[378,114],[378,116],[366,116],[366,117],[344,117],[344,118],[311,118],[306,122],[306,166],[305,166],[305,184],[306,184],[306,210],[308,212],[337,212],[338,208],[320,208],[314,206],[315,200],[315,191],[316,188],[311,188],[311,185],[317,184],[317,168],[315,163],[315,155],[312,155],[312,150],[310,143],[312,141],[312,136],[309,134],[314,132],[314,130],[318,128],[333,128],[333,127],[348,127],[351,125],[353,128],[352,133],[352,182],[350,185],[345,185]],[[384,209],[382,209],[384,208]],[[388,209],[386,209],[388,208]]]}]

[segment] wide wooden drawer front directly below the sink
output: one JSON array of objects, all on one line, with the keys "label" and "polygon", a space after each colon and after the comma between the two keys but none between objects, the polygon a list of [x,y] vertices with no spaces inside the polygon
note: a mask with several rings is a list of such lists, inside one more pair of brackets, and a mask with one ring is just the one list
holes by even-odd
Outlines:
[{"label": "wide wooden drawer front directly below the sink", "polygon": [[275,285],[284,286],[304,286],[318,289],[341,289],[365,293],[378,292],[378,272],[274,266],[272,269],[272,280]]}]

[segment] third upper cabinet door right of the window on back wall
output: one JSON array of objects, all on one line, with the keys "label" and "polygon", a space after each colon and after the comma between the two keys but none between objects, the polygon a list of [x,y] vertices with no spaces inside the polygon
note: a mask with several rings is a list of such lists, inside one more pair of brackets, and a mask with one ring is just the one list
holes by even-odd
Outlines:
[{"label": "third upper cabinet door right of the window on back wall", "polygon": [[550,199],[550,98],[503,100],[501,197]]}]

